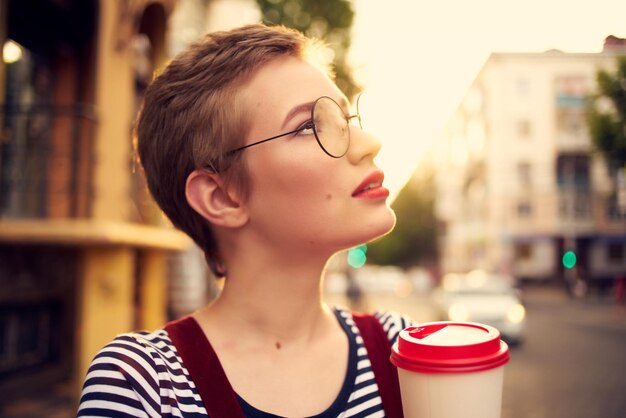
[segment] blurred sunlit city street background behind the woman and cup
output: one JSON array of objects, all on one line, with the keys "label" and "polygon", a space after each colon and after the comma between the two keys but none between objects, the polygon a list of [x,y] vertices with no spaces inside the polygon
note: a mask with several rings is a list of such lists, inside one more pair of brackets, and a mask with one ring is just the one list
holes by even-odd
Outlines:
[{"label": "blurred sunlit city street background behind the woman and cup", "polygon": [[207,31],[328,43],[383,142],[394,232],[338,254],[330,303],[496,326],[503,418],[626,411],[626,3],[0,0],[0,417],[74,416],[116,334],[213,299],[155,207],[132,125]]}]

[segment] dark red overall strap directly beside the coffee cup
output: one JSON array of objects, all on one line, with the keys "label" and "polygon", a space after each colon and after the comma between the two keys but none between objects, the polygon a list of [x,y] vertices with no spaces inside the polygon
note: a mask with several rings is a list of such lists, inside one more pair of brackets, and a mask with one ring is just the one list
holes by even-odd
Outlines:
[{"label": "dark red overall strap directly beside the coffee cup", "polygon": [[404,418],[398,370],[391,364],[391,344],[383,326],[371,314],[353,313],[354,323],[361,332],[363,343],[372,363],[374,379],[383,401],[387,418]]}]

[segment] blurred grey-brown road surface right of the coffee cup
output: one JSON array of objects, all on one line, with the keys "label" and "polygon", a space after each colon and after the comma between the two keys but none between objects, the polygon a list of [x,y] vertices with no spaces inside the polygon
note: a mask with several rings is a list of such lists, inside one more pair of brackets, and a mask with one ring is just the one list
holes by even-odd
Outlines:
[{"label": "blurred grey-brown road surface right of the coffee cup", "polygon": [[527,289],[525,342],[505,369],[502,418],[626,417],[626,308]]}]

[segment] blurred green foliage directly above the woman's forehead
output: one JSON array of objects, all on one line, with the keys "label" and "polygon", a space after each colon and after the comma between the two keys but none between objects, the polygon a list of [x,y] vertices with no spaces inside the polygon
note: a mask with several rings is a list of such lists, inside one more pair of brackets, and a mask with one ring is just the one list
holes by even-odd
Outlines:
[{"label": "blurred green foliage directly above the woman's forehead", "polygon": [[359,91],[347,63],[354,20],[349,0],[257,0],[266,24],[281,24],[321,39],[334,52],[335,82],[352,98]]}]

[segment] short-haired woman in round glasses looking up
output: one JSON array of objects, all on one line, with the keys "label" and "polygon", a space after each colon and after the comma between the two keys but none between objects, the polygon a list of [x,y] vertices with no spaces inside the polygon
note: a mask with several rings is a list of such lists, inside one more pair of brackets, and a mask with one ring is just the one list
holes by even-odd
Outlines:
[{"label": "short-haired woman in round glasses looking up", "polygon": [[[148,88],[137,139],[149,188],[225,284],[184,326],[105,347],[79,416],[213,416],[224,387],[236,399],[226,416],[385,415],[386,384],[351,312],[323,302],[322,277],[333,254],[387,233],[395,216],[373,162],[380,143],[314,46],[281,27],[213,33]],[[408,325],[376,320],[385,343]]]}]

